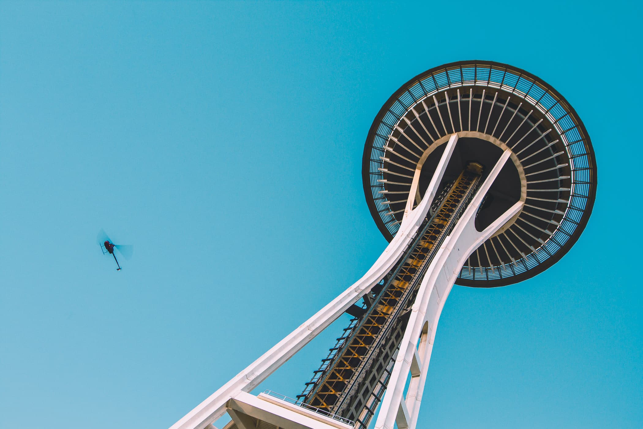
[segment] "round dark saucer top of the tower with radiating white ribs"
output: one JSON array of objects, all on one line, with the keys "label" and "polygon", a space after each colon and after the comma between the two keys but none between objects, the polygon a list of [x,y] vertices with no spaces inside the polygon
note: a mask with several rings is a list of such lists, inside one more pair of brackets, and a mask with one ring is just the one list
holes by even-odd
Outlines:
[{"label": "round dark saucer top of the tower with radiating white ribs", "polygon": [[466,163],[493,167],[502,150],[512,151],[513,162],[487,193],[476,227],[516,201],[525,203],[473,252],[456,283],[507,286],[561,259],[592,213],[597,173],[590,137],[554,88],[524,70],[489,61],[425,71],[395,91],[377,114],[364,148],[362,178],[385,238],[391,241],[399,229],[416,172],[419,203],[451,134],[458,134],[458,147],[445,182]]}]

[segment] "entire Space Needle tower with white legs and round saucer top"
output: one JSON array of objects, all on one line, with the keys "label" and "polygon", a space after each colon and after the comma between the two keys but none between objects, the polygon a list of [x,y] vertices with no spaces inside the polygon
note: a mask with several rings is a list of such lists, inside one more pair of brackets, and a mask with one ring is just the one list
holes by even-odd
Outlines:
[{"label": "entire Space Needle tower with white legs and round saucer top", "polygon": [[[362,177],[389,242],[381,256],[172,429],[213,428],[226,413],[223,429],[414,429],[453,285],[507,286],[552,266],[583,232],[597,185],[590,137],[565,98],[479,60],[395,91],[368,131]],[[349,325],[301,394],[251,394],[344,313]]]}]

